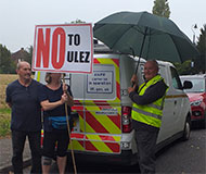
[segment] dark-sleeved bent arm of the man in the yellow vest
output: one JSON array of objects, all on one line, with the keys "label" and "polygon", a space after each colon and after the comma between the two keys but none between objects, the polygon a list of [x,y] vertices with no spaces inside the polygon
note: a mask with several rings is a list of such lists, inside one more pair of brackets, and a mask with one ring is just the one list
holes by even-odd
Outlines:
[{"label": "dark-sleeved bent arm of the man in the yellow vest", "polygon": [[150,104],[165,95],[167,86],[163,80],[152,85],[146,89],[143,96],[139,96],[138,92],[132,91],[129,94],[130,99],[137,104],[144,105]]}]

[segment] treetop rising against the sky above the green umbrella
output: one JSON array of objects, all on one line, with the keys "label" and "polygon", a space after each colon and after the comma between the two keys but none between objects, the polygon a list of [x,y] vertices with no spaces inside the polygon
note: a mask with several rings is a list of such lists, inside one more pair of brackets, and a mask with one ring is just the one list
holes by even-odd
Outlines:
[{"label": "treetop rising against the sky above the green umbrella", "polygon": [[167,2],[167,0],[155,0],[153,7],[153,14],[169,18],[169,2]]}]

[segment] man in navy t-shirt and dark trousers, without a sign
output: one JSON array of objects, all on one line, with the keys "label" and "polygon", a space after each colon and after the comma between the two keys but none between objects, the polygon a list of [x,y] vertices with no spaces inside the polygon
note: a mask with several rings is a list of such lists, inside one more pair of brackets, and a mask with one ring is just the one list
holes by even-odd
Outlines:
[{"label": "man in navy t-shirt and dark trousers, without a sign", "polygon": [[23,151],[27,137],[31,151],[30,173],[41,173],[41,107],[38,97],[41,84],[31,78],[28,62],[18,62],[16,73],[18,79],[8,85],[5,99],[12,109],[13,171],[15,174],[23,173]]}]

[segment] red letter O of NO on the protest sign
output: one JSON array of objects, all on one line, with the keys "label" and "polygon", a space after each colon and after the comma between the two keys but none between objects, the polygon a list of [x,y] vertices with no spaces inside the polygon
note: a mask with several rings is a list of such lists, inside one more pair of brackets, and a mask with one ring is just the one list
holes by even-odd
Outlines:
[{"label": "red letter O of NO on the protest sign", "polygon": [[[65,37],[66,34],[63,28],[59,27],[53,33],[52,38],[52,65],[54,69],[61,69],[65,61]],[[57,60],[59,51],[59,60]]]}]

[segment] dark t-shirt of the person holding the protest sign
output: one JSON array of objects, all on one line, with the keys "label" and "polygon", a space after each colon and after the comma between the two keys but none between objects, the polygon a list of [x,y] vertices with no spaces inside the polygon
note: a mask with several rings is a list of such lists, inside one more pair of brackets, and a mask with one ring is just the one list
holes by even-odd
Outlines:
[{"label": "dark t-shirt of the person holding the protest sign", "polygon": [[[67,91],[70,96],[73,96],[70,91],[70,87],[67,86]],[[52,90],[48,88],[46,85],[41,88],[40,92],[40,101],[49,100],[49,102],[54,102],[61,100],[63,95],[62,85],[59,89]],[[67,105],[68,115],[70,114],[70,107]],[[49,116],[66,116],[65,112],[65,104],[59,105],[52,110],[43,111],[43,129],[47,132],[51,130],[50,123],[48,117]]]}]

